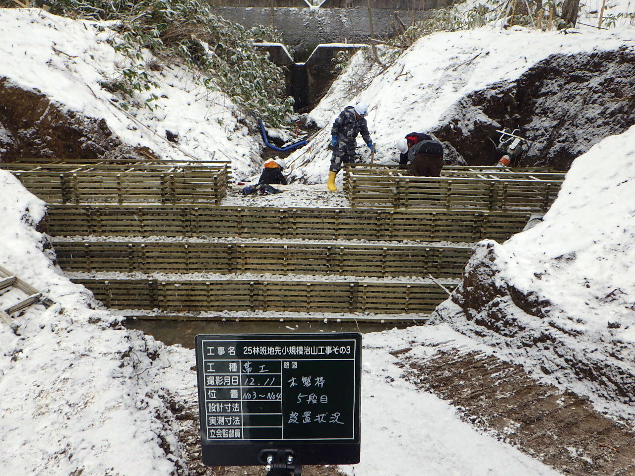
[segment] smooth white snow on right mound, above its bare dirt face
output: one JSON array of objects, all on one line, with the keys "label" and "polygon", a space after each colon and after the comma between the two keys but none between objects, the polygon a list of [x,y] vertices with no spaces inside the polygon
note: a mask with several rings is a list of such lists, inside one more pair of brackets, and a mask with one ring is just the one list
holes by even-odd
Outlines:
[{"label": "smooth white snow on right mound, above its bare dirt face", "polygon": [[[635,126],[575,159],[542,223],[503,245],[516,257],[508,266],[520,289],[533,289],[568,314],[584,316],[585,333],[608,333],[630,345],[635,205],[627,197],[635,195],[634,145]],[[540,252],[523,253],[530,244]],[[609,322],[622,326],[608,331]]]}]

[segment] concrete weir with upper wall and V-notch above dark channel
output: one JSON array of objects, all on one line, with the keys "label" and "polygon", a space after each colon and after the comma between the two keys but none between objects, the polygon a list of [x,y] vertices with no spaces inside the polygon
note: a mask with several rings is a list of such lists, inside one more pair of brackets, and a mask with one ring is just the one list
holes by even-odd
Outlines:
[{"label": "concrete weir with upper wall and V-notch above dark channel", "polygon": [[[209,0],[215,13],[246,28],[275,27],[284,44],[258,43],[272,61],[284,67],[287,93],[295,109],[315,105],[335,74],[333,57],[338,51],[357,50],[370,37],[368,0]],[[429,10],[453,0],[371,0],[375,37],[388,37],[427,18]]]}]

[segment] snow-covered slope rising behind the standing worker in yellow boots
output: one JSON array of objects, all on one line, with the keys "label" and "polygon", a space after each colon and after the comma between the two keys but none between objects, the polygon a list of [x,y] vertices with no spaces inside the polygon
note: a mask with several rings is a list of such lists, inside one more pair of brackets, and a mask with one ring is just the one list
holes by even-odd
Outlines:
[{"label": "snow-covered slope rising behind the standing worker in yellow boots", "polygon": [[[632,46],[630,40],[632,29],[587,29],[565,34],[522,27],[511,30],[483,27],[439,32],[418,40],[359,93],[357,89],[363,83],[359,73],[364,65],[363,53],[358,53],[345,74],[309,114],[309,121],[324,129],[309,144],[308,151],[295,152],[288,162],[295,164],[295,174],[307,182],[326,182],[331,156],[326,146],[330,142],[331,124],[345,105],[358,101],[368,104],[366,119],[377,145],[378,162],[398,161],[395,142],[399,137],[411,131],[432,131],[445,121],[457,119],[457,114],[464,135],[474,122],[491,123],[493,131],[500,124],[493,124],[479,110],[472,111],[471,117],[463,117],[462,112],[455,110],[457,103],[472,91],[518,79],[550,55],[617,50],[620,46]],[[358,146],[358,153],[368,157],[361,136]]]}]

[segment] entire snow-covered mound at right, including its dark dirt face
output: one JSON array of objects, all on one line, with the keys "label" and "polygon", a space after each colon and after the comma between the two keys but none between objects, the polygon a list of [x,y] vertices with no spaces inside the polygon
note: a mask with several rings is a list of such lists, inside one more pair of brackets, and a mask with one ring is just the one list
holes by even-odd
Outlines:
[{"label": "entire snow-covered mound at right, including its dark dirt face", "polygon": [[437,322],[635,416],[635,126],[578,157],[537,226],[481,242]]}]

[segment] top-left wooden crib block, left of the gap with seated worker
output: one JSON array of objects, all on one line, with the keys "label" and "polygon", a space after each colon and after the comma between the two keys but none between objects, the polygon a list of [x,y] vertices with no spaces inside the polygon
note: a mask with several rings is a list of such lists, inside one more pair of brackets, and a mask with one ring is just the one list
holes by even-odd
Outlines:
[{"label": "top-left wooden crib block, left of the gap with seated worker", "polygon": [[32,194],[50,204],[220,204],[227,193],[229,162],[134,162],[11,162],[0,167],[11,171]]}]

